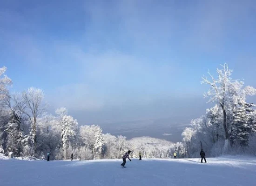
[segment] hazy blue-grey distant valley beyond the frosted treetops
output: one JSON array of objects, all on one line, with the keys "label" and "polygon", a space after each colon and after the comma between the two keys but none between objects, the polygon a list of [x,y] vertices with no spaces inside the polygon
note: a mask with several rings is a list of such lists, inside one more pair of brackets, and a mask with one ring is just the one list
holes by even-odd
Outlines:
[{"label": "hazy blue-grey distant valley beyond the frosted treetops", "polygon": [[[177,121],[179,120],[179,121]],[[190,119],[186,118],[167,118],[158,120],[138,120],[116,123],[100,124],[103,133],[112,135],[123,135],[127,139],[135,137],[149,136],[178,142],[182,140],[182,132],[189,126]]]}]

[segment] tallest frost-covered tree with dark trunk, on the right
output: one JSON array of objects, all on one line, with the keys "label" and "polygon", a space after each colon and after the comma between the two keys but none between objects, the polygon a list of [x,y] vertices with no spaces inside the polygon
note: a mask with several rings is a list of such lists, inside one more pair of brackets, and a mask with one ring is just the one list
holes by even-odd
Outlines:
[{"label": "tallest frost-covered tree with dark trunk, on the right", "polygon": [[251,86],[243,88],[243,81],[231,79],[232,70],[227,64],[222,66],[222,69],[217,68],[218,78],[215,79],[209,73],[211,80],[203,77],[202,83],[210,85],[210,89],[204,94],[205,97],[210,97],[209,102],[215,102],[222,109],[222,126],[225,132],[224,151],[227,152],[230,144],[231,125],[233,122],[233,114],[236,106],[245,104],[247,96],[256,95],[256,89]]}]

